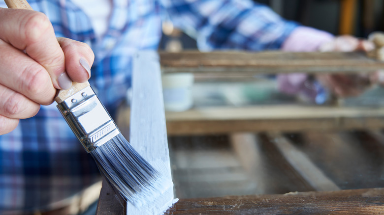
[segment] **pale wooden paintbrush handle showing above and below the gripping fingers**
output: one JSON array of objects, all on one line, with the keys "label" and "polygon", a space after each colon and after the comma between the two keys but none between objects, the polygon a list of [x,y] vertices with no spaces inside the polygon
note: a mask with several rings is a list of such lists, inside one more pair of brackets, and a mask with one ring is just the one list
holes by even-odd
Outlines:
[{"label": "pale wooden paintbrush handle showing above and below the gripping fingers", "polygon": [[[5,3],[7,4],[8,8],[33,10],[31,5],[26,0],[5,0]],[[84,83],[72,82],[71,88],[58,91],[55,101],[57,103],[61,103],[65,99],[69,98],[87,86],[89,86],[88,81]]]}]

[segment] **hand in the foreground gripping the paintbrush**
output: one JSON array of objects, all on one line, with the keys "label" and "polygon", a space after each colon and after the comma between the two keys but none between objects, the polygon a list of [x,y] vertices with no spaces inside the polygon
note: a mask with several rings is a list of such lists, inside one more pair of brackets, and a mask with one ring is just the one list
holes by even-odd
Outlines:
[{"label": "hand in the foreground gripping the paintbrush", "polygon": [[94,54],[85,43],[57,39],[43,13],[0,8],[0,20],[0,134],[6,134],[51,104],[57,89],[87,81]]}]

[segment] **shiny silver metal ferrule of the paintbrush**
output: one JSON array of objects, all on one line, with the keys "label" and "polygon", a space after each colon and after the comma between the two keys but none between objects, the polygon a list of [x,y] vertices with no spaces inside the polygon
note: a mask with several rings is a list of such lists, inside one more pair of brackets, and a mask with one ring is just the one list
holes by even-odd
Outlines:
[{"label": "shiny silver metal ferrule of the paintbrush", "polygon": [[87,152],[92,152],[120,133],[90,86],[65,99],[57,107]]}]

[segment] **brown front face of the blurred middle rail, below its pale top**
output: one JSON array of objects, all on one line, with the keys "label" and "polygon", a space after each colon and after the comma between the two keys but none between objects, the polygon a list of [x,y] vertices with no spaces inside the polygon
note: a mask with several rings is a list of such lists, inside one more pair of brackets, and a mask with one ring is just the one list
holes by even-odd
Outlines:
[{"label": "brown front face of the blurred middle rail, below its pale top", "polygon": [[200,120],[167,122],[168,135],[226,134],[232,132],[307,132],[381,129],[383,117],[313,118],[313,119],[250,119]]}]

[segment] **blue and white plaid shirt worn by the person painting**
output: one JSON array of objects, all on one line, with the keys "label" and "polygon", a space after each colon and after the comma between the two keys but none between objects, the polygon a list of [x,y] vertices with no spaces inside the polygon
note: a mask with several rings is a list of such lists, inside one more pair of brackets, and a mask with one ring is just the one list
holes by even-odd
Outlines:
[{"label": "blue and white plaid shirt worn by the person painting", "polygon": [[[111,115],[131,83],[132,54],[156,50],[161,21],[195,36],[199,49],[278,49],[296,24],[249,0],[113,0],[105,36],[96,38],[86,14],[71,0],[29,0],[58,37],[86,42],[95,52],[91,85]],[[6,7],[0,0],[0,7]],[[99,173],[55,107],[20,120],[0,136],[1,211],[50,210],[98,181]]]}]

